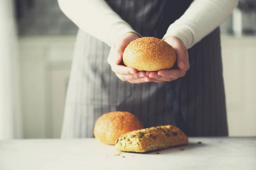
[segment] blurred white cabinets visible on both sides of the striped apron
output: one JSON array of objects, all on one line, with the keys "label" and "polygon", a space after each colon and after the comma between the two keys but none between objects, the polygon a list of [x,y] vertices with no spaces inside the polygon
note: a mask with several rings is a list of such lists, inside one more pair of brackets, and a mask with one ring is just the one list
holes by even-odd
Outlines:
[{"label": "blurred white cabinets visible on both sides of the striped apron", "polygon": [[[20,39],[26,138],[58,138],[75,37]],[[222,36],[230,136],[256,136],[256,37]]]}]

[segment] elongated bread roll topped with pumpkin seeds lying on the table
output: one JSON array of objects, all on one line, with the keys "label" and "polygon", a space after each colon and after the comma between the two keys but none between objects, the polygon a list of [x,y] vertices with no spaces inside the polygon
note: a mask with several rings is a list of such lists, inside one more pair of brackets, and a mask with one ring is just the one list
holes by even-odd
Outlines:
[{"label": "elongated bread roll topped with pumpkin seeds lying on the table", "polygon": [[116,150],[124,152],[148,152],[188,144],[189,139],[172,125],[150,127],[125,133],[115,142]]}]

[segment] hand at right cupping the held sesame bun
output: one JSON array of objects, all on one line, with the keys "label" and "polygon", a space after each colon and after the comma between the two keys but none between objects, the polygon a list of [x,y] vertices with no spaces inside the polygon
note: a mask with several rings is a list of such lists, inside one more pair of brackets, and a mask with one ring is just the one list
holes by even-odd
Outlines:
[{"label": "hand at right cupping the held sesame bun", "polygon": [[154,78],[159,82],[170,82],[180,77],[185,76],[186,71],[189,70],[189,54],[183,42],[175,37],[169,36],[164,39],[168,44],[172,45],[177,54],[177,69],[147,71],[146,76]]}]

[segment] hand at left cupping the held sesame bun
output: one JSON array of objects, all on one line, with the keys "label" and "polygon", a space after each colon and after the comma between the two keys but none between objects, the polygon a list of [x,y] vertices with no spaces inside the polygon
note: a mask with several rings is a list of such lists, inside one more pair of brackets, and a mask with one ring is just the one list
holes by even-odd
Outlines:
[{"label": "hand at left cupping the held sesame bun", "polygon": [[114,45],[111,47],[108,55],[108,63],[111,65],[112,71],[122,81],[128,81],[130,83],[143,83],[150,82],[152,79],[146,76],[145,71],[137,71],[134,68],[120,65],[122,62],[122,54],[127,45],[139,38],[135,33],[128,32],[124,34]]}]

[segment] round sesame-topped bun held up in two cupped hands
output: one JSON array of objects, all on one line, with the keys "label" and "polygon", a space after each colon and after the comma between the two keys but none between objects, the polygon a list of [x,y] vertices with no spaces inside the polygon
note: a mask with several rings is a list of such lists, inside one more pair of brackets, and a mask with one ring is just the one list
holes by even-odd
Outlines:
[{"label": "round sesame-topped bun held up in two cupped hands", "polygon": [[175,65],[177,55],[164,40],[142,37],[133,40],[125,48],[123,62],[137,71],[159,71]]}]

